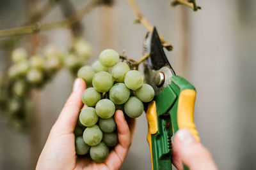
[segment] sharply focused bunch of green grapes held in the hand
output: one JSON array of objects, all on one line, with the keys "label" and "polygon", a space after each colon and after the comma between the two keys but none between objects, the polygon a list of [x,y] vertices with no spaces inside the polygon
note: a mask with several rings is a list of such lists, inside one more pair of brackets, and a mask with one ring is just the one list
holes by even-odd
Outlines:
[{"label": "sharply focused bunch of green grapes held in the hand", "polygon": [[88,106],[79,114],[76,135],[76,153],[95,162],[108,158],[109,148],[118,143],[114,114],[122,110],[128,117],[138,118],[144,111],[143,103],[154,98],[154,89],[143,83],[143,74],[131,70],[126,62],[119,62],[115,50],[100,53],[92,66],[81,67],[77,73],[88,89],[83,92],[83,103]]}]

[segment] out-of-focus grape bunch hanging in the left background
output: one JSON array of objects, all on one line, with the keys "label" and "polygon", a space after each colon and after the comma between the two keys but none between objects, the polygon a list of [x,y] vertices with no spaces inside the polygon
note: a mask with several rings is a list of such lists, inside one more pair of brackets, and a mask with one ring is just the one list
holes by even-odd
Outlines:
[{"label": "out-of-focus grape bunch hanging in the left background", "polygon": [[92,55],[92,46],[84,39],[76,39],[68,52],[54,45],[45,47],[41,54],[29,57],[24,48],[11,54],[12,65],[6,75],[0,75],[0,110],[4,122],[15,131],[31,125],[31,90],[42,89],[54,75],[65,67],[74,76]]}]

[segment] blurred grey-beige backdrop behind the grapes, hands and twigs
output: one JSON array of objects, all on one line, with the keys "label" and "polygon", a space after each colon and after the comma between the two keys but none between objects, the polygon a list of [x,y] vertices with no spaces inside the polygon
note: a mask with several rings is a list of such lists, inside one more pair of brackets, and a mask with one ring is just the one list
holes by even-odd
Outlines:
[{"label": "blurred grey-beige backdrop behind the grapes, hands and twigs", "polygon": [[[0,1],[0,29],[21,26],[47,2]],[[67,3],[55,1],[40,22],[59,21],[71,15],[72,9],[63,13],[63,2]],[[73,10],[79,10],[89,1],[70,2]],[[173,69],[196,87],[196,128],[217,166],[256,169],[256,1],[197,0],[202,10],[196,12],[185,6],[173,8],[167,0],[137,3],[141,13],[173,45],[173,51],[166,52]],[[83,34],[79,36],[93,46],[88,64],[105,48],[119,53],[125,50],[128,57],[139,59],[147,29],[133,24],[135,18],[126,1],[115,1],[111,7],[99,6],[84,15],[79,22]],[[10,41],[0,38],[1,44],[6,39]],[[62,28],[29,34],[14,46],[23,46],[32,53],[35,43],[38,53],[48,44],[67,50],[72,46],[72,32]],[[10,66],[11,51],[8,46],[0,48],[2,73]],[[67,69],[61,69],[44,88],[32,90],[34,124],[29,132],[17,132],[6,126],[1,114],[0,169],[35,169],[73,80]],[[134,140],[121,169],[151,169],[146,136],[147,121],[143,115],[137,119]]]}]

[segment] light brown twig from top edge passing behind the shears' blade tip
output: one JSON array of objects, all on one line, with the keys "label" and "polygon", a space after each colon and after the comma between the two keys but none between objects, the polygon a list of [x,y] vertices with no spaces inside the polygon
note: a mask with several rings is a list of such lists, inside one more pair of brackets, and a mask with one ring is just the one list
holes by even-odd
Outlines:
[{"label": "light brown twig from top edge passing behind the shears' blade tip", "polygon": [[[148,22],[148,20],[143,17],[143,15],[140,12],[140,9],[138,8],[138,5],[136,4],[136,0],[127,0],[127,3],[129,3],[129,5],[132,8],[132,11],[134,12],[134,14],[136,15],[138,21],[144,25],[144,27],[146,27],[148,29],[148,31],[153,32],[154,27]],[[167,49],[167,50],[172,50],[173,46],[170,45],[170,43],[168,43],[161,35],[159,35],[159,38],[162,42],[162,45]]]}]

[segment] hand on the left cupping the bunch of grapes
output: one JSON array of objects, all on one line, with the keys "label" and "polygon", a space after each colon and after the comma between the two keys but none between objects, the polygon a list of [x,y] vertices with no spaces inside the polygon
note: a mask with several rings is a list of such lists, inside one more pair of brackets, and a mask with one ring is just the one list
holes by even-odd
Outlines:
[{"label": "hand on the left cupping the bunch of grapes", "polygon": [[[74,129],[81,108],[82,93],[86,89],[83,80],[77,79],[73,92],[67,100],[58,120],[52,126],[44,149],[38,159],[36,169],[119,169],[131,146],[135,119],[124,118],[122,111],[115,113],[118,144],[103,163],[95,163],[90,156],[77,157]],[[128,122],[128,124],[127,124]]]}]

